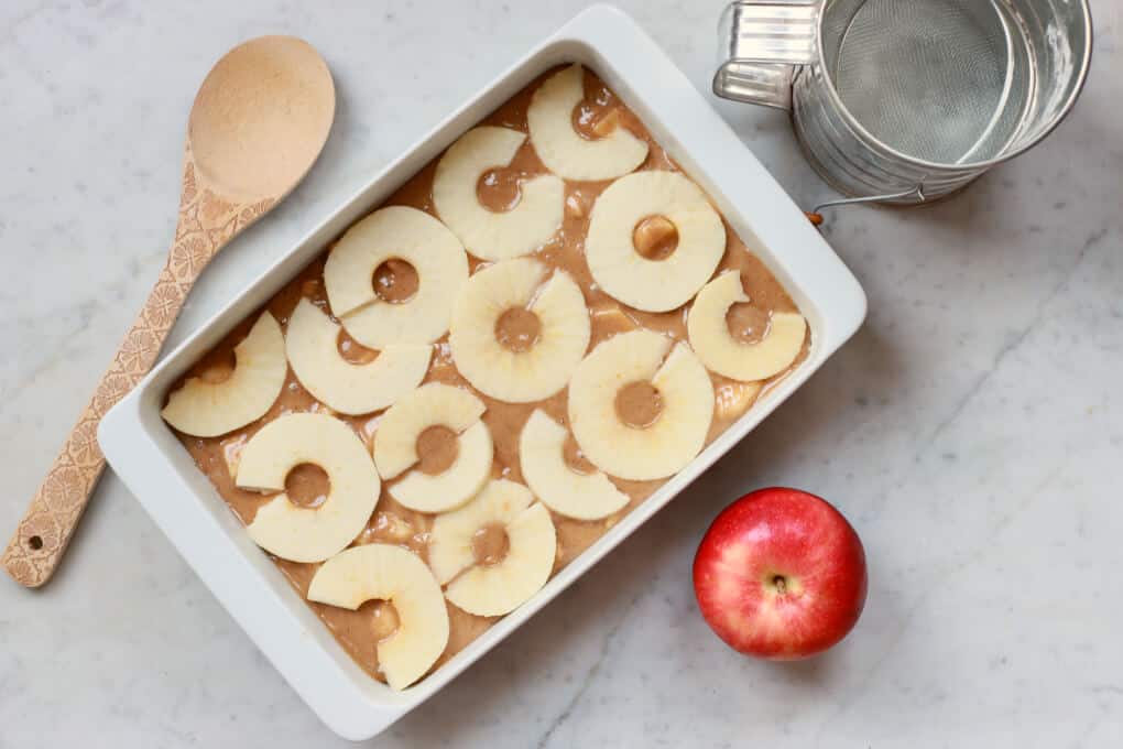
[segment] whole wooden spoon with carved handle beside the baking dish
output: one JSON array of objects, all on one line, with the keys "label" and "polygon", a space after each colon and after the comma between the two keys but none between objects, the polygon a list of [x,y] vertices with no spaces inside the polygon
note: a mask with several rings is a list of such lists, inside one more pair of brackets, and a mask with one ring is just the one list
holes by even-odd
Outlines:
[{"label": "whole wooden spoon with carved handle beside the baking dish", "polygon": [[264,36],[226,54],[188,120],[180,219],[167,265],[0,558],[16,582],[54,573],[106,468],[98,422],[152,368],[210,259],[301,181],[331,129],[331,73],[308,43]]}]

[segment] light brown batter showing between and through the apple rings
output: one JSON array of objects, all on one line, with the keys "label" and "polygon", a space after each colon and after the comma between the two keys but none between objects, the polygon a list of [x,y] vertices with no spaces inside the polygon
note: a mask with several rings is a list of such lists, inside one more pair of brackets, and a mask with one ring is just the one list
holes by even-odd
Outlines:
[{"label": "light brown batter showing between and through the apple rings", "polygon": [[[527,106],[530,102],[530,97],[538,84],[548,75],[557,72],[557,70],[559,68],[554,68],[542,74],[529,86],[515,94],[514,98],[485,118],[482,124],[510,127],[526,133]],[[586,137],[595,136],[599,127],[600,133],[603,134],[608,133],[614,124],[618,124],[650,144],[650,153],[647,161],[640,167],[641,170],[682,171],[667,153],[655,143],[647,128],[643,127],[636,115],[624,107],[597,76],[587,71],[585,76],[586,101],[575,110],[574,117],[575,122],[578,124],[581,131]],[[413,179],[386,200],[383,205],[411,205],[436,216],[431,199],[435,168],[436,161],[424,166]],[[495,170],[484,175],[478,185],[477,194],[492,208],[509,208],[517,200],[518,185],[521,181],[546,172],[547,170],[538,159],[528,139],[515,155],[510,167]],[[686,308],[664,313],[641,312],[622,305],[592,283],[592,277],[584,261],[584,239],[588,229],[588,217],[593,203],[609,184],[611,182],[566,183],[566,210],[562,230],[537,254],[537,257],[553,267],[565,270],[581,285],[592,320],[590,350],[606,338],[636,327],[645,327],[665,332],[676,340],[687,340]],[[667,252],[666,248],[668,245],[670,246],[670,252],[673,252],[672,240],[676,240],[676,237],[666,230],[666,226],[654,219],[647,223],[651,226],[640,231],[642,236],[637,237],[638,244],[648,241],[643,237],[650,235],[649,239],[651,244],[663,248],[657,248],[657,254]],[[674,229],[673,226],[672,229]],[[719,273],[729,268],[740,271],[746,291],[752,300],[751,305],[745,305],[748,311],[734,310],[734,312],[731,312],[730,327],[731,329],[751,328],[756,332],[750,331],[748,334],[749,337],[759,338],[759,336],[764,335],[760,328],[766,325],[768,313],[774,311],[795,312],[797,309],[776,278],[768,272],[764,263],[748,250],[728,222],[725,225],[725,254],[719,267]],[[308,298],[318,307],[328,311],[322,283],[325,257],[326,253],[304,268],[295,280],[265,305],[265,309],[272,312],[282,326],[287,325],[289,316],[302,296]],[[474,257],[469,257],[469,261],[472,271],[474,272],[481,265],[481,262]],[[400,267],[401,265],[408,266],[408,264],[398,263],[395,266],[391,262],[385,265],[390,267],[385,270],[381,277],[376,274],[374,280],[380,295],[384,295],[385,299],[392,300],[396,298],[401,300],[407,299],[408,295],[411,295],[417,290],[416,273],[413,274],[412,282],[409,281],[409,273],[412,268]],[[411,283],[412,285],[410,285]],[[228,374],[232,365],[231,351],[234,346],[246,336],[258,314],[259,311],[241,322],[213,351],[203,357],[188,376],[201,375],[210,369],[221,367],[227,367],[226,373]],[[742,318],[745,319],[742,320]],[[528,327],[532,328],[532,326],[528,326],[526,319],[509,322],[511,330],[500,332],[510,338],[509,345],[512,347],[524,345],[526,338],[536,335],[532,330],[528,330]],[[805,358],[806,349],[807,342],[805,341],[804,350],[800,355],[797,363]],[[348,360],[359,363],[371,360],[376,356],[374,351],[363,348],[346,334],[341,334],[339,337],[339,350]],[[783,376],[779,375],[764,385],[767,386]],[[714,419],[710,428],[707,442],[740,418],[752,405],[761,392],[761,383],[739,383],[713,374],[711,374],[711,378],[713,380],[715,398]],[[484,413],[483,420],[491,430],[492,439],[495,444],[493,467],[495,477],[526,483],[519,469],[519,435],[535,409],[542,409],[560,423],[565,424],[568,421],[565,391],[546,401],[514,404],[490,399],[472,389],[453,364],[447,336],[438,342],[432,364],[424,381],[442,382],[467,389],[486,403],[487,411]],[[642,389],[638,389],[632,394],[634,402],[622,404],[621,408],[629,411],[638,411],[640,415],[634,418],[642,420],[645,412],[657,414],[658,408],[652,402],[657,400],[657,395],[651,393],[652,389],[647,389],[646,398],[649,399],[648,402],[645,402],[645,396],[639,394],[640,390]],[[292,411],[328,411],[328,409],[317,402],[300,385],[295,375],[290,369],[280,398],[277,398],[268,413],[258,421],[217,438],[201,439],[180,435],[182,442],[191,453],[200,469],[207,474],[219,494],[245,523],[252,522],[257,509],[271,497],[263,496],[256,492],[246,492],[235,486],[231,472],[236,469],[237,457],[246,441],[266,422]],[[367,446],[369,446],[382,412],[363,417],[337,415],[349,423]],[[647,418],[651,417],[648,415]],[[447,435],[442,438],[439,432],[435,432],[423,436],[421,441],[424,442],[420,445],[420,454],[422,455],[421,467],[423,471],[438,471],[440,465],[448,465],[455,458],[455,453],[451,456],[448,454],[450,449],[455,450],[455,440],[448,439]],[[448,444],[451,444],[451,448],[448,447]],[[565,457],[566,462],[577,471],[588,473],[595,469],[581,455],[581,450],[577,448],[572,436],[566,440]],[[664,483],[664,481],[632,482],[618,478],[613,478],[612,481],[631,497],[628,506],[615,515],[604,520],[585,522],[554,514],[554,523],[558,538],[555,573],[588,548],[609,528],[619,522],[623,515]],[[292,482],[293,492],[298,495],[296,501],[301,503],[314,503],[317,497],[322,497],[326,491],[326,476],[317,476],[312,468],[299,467],[293,471],[290,482]],[[393,485],[393,482],[385,482],[383,484],[382,496],[378,500],[374,515],[371,518],[367,528],[355,540],[355,544],[396,544],[410,548],[422,558],[426,558],[426,545],[428,531],[432,526],[432,515],[413,512],[400,505],[387,491],[387,487],[391,485]],[[322,499],[319,501],[322,501]],[[505,535],[497,535],[491,530],[483,532],[476,539],[475,544],[477,558],[486,561],[494,561],[496,558],[501,558],[505,542]],[[296,592],[301,596],[304,596],[309,582],[319,568],[319,564],[300,564],[276,558],[274,558],[274,561],[291,581]],[[337,609],[312,602],[309,602],[308,605],[316,611],[336,636],[336,639],[339,640],[343,647],[364,669],[375,678],[384,681],[377,669],[375,647],[380,639],[392,634],[394,627],[396,627],[396,615],[393,612],[393,606],[382,602],[367,602],[357,611],[347,611],[346,609]],[[450,624],[449,641],[444,655],[437,660],[433,668],[438,668],[442,663],[451,658],[496,620],[496,618],[475,616],[465,613],[447,602],[446,605],[448,608]]]}]

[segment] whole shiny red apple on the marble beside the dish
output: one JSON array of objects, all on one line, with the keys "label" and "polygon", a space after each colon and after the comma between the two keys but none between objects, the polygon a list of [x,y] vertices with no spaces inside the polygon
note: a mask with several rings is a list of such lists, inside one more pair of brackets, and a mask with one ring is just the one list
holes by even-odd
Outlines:
[{"label": "whole shiny red apple on the marble beside the dish", "polygon": [[746,494],[718,515],[694,557],[706,623],[734,650],[773,660],[822,652],[866,603],[866,554],[838,510],[794,488]]}]

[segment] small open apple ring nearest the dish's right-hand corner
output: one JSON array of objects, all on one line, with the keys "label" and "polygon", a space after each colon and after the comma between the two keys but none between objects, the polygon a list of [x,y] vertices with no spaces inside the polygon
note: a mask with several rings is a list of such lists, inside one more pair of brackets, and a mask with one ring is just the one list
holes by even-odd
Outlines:
[{"label": "small open apple ring nearest the dish's right-hand corner", "polygon": [[767,380],[784,372],[803,349],[807,322],[795,312],[774,312],[768,331],[757,344],[737,340],[729,332],[729,308],[748,302],[737,271],[707,283],[691,307],[686,328],[699,358],[713,372],[741,382]]}]

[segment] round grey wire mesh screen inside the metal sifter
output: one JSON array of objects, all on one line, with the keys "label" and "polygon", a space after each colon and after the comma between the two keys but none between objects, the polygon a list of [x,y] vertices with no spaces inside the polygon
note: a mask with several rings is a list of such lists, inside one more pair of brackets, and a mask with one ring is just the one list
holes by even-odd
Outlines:
[{"label": "round grey wire mesh screen inside the metal sifter", "polygon": [[823,52],[850,113],[909,156],[989,158],[1025,100],[1008,21],[996,0],[833,0]]}]

